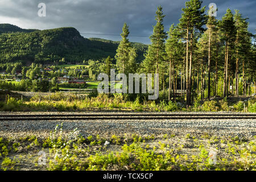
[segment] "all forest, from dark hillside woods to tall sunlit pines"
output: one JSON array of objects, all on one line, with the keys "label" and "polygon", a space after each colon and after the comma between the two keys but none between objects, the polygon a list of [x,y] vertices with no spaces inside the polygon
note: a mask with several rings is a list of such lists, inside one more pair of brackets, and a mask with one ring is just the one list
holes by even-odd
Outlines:
[{"label": "all forest, from dark hillside woods to tall sunlit pines", "polygon": [[255,93],[255,34],[248,30],[248,18],[227,9],[216,19],[198,0],[186,2],[182,11],[179,23],[165,32],[163,7],[157,7],[148,46],[129,42],[127,23],[120,42],[85,39],[72,27],[40,31],[2,24],[2,67],[17,60],[43,65],[86,62],[92,80],[111,68],[125,74],[158,73],[163,98],[187,107],[198,99]]}]

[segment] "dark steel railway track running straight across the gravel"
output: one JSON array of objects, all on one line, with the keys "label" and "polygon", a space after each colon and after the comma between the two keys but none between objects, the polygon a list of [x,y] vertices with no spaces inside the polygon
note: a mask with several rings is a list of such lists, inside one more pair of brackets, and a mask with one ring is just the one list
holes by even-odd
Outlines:
[{"label": "dark steel railway track running straight across the gravel", "polygon": [[54,120],[102,120],[102,119],[256,119],[256,114],[8,114],[0,121],[54,121]]}]

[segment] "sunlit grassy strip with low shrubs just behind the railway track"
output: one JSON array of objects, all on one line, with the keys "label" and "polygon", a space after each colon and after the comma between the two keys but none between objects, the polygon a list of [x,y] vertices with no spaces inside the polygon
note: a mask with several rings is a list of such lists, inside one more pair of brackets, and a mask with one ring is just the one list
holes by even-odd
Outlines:
[{"label": "sunlit grassy strip with low shrubs just behind the railway track", "polygon": [[[134,98],[133,98],[134,97]],[[256,98],[247,101],[233,101],[227,98],[214,100],[195,100],[191,107],[182,102],[146,100],[146,96],[131,94],[63,94],[53,93],[49,96],[36,94],[30,99],[7,97],[0,102],[0,111],[89,111],[89,110],[123,110],[123,111],[238,111],[256,112]],[[161,94],[160,94],[160,97]]]}]

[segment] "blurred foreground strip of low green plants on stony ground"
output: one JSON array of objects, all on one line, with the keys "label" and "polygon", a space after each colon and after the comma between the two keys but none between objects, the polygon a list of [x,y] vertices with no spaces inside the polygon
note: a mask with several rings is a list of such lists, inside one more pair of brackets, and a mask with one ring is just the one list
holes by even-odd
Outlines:
[{"label": "blurred foreground strip of low green plants on stony ground", "polygon": [[44,138],[0,138],[0,170],[255,170],[255,139],[207,133],[84,137],[59,126]]}]

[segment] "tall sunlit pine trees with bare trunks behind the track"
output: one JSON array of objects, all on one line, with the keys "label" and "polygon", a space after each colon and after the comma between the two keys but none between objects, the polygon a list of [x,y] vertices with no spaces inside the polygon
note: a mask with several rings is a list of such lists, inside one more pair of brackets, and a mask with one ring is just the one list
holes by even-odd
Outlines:
[{"label": "tall sunlit pine trees with bare trunks behind the track", "polygon": [[166,92],[168,88],[168,100],[176,101],[179,88],[179,99],[187,106],[195,98],[205,98],[205,94],[210,99],[255,92],[255,35],[248,31],[247,18],[239,10],[233,14],[227,9],[218,20],[208,15],[199,0],[187,1],[182,11],[179,23],[165,32],[165,15],[158,6],[151,44],[139,65],[125,23],[115,55],[118,72],[158,73],[159,89]]}]

